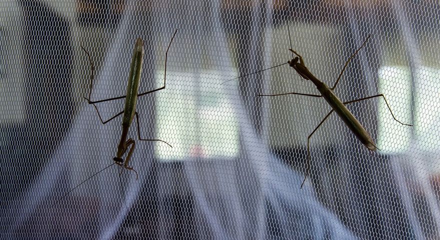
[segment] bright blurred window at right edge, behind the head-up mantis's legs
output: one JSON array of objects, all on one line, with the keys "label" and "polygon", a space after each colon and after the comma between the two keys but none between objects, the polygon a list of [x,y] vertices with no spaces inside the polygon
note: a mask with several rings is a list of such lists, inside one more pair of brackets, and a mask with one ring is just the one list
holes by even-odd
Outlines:
[{"label": "bright blurred window at right edge, behind the head-up mantis's legs", "polygon": [[[438,148],[440,129],[434,121],[440,116],[440,69],[422,66],[414,73],[416,90],[413,113],[407,109],[411,104],[411,76],[408,67],[384,66],[379,70],[379,92],[386,92],[385,97],[391,105],[394,115],[403,122],[411,122],[414,115],[413,128],[396,124],[389,114],[383,100],[379,101],[379,136],[377,146],[386,153],[405,151],[409,147],[410,131],[414,131],[417,145],[423,150],[432,151]],[[418,89],[418,90],[417,90]],[[423,94],[423,95],[421,95]],[[434,135],[434,136],[433,136]],[[389,140],[389,139],[392,139]]]}]

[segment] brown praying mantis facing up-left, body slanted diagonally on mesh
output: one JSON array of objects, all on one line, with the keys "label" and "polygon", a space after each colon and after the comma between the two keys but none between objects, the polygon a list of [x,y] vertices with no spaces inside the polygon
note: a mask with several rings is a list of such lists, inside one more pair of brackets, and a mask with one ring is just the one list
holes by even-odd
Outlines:
[{"label": "brown praying mantis facing up-left, body slanted diagonally on mesh", "polygon": [[[345,106],[346,104],[357,102],[357,101],[362,101],[362,100],[366,100],[366,99],[370,99],[370,98],[374,98],[374,97],[382,97],[383,100],[385,101],[386,106],[388,107],[392,117],[394,118],[394,120],[396,120],[397,122],[399,122],[402,125],[412,126],[411,124],[402,123],[401,121],[399,121],[395,118],[394,114],[391,111],[391,107],[389,106],[389,104],[386,101],[386,98],[383,94],[376,94],[373,96],[362,97],[359,99],[343,102],[333,92],[333,90],[336,88],[336,85],[338,84],[338,82],[342,76],[342,73],[345,71],[345,68],[347,67],[348,63],[359,52],[359,50],[365,45],[365,43],[370,38],[370,36],[371,35],[368,35],[368,37],[364,40],[362,45],[347,59],[344,66],[342,67],[341,72],[339,73],[338,78],[336,79],[336,82],[333,84],[332,87],[328,87],[324,82],[320,81],[316,76],[314,76],[313,73],[311,73],[310,70],[305,66],[304,59],[302,58],[302,56],[298,52],[292,50],[291,49],[292,47],[289,49],[292,52],[292,59],[291,60],[288,60],[287,62],[285,62],[283,64],[272,66],[272,67],[269,67],[269,68],[266,68],[263,70],[259,70],[259,71],[252,72],[249,74],[241,75],[239,77],[231,79],[231,80],[234,80],[234,79],[237,79],[240,77],[252,75],[252,74],[264,71],[264,70],[275,68],[275,67],[278,67],[278,66],[281,66],[284,64],[289,64],[289,66],[293,67],[293,69],[295,69],[296,72],[302,78],[312,81],[313,84],[315,84],[316,88],[318,89],[318,91],[321,94],[317,95],[317,94],[307,94],[307,93],[298,93],[298,92],[287,92],[287,93],[280,93],[280,94],[258,94],[258,96],[281,96],[281,95],[287,95],[287,94],[295,94],[295,95],[312,96],[312,97],[323,97],[327,101],[327,103],[331,106],[332,109],[330,110],[330,112],[328,112],[327,115],[324,116],[324,118],[321,120],[321,122],[319,122],[318,126],[316,126],[315,129],[312,131],[312,133],[310,133],[307,137],[307,168],[306,168],[304,180],[301,183],[301,188],[304,185],[304,182],[305,182],[305,180],[309,174],[309,170],[310,170],[310,138],[312,137],[313,133],[316,132],[316,130],[322,125],[322,123],[324,123],[324,121],[330,116],[330,114],[333,111],[336,112],[336,114],[342,119],[342,121],[344,121],[344,123],[348,126],[348,128],[351,130],[351,132],[353,132],[354,135],[360,140],[360,142],[362,142],[362,144],[364,144],[368,148],[368,150],[371,150],[371,151],[374,151],[378,148],[376,147],[373,139],[371,138],[369,133],[365,130],[365,128],[362,126],[362,124],[356,119],[356,117]],[[290,30],[289,30],[289,39],[290,39]],[[296,56],[293,57],[293,54],[295,54]],[[228,81],[230,81],[230,80],[228,80]]]}]

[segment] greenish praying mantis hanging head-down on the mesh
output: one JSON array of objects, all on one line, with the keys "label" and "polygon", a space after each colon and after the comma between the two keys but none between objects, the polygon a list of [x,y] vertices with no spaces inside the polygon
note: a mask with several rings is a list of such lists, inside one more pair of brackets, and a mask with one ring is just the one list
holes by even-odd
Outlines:
[{"label": "greenish praying mantis hanging head-down on the mesh", "polygon": [[[165,73],[164,73],[163,86],[161,86],[157,89],[143,92],[143,93],[138,93],[139,82],[140,82],[141,72],[142,72],[142,63],[143,63],[143,57],[144,57],[144,42],[141,38],[137,38],[136,42],[135,42],[135,47],[133,49],[133,57],[132,57],[131,65],[130,65],[130,73],[129,73],[128,83],[127,83],[127,94],[123,95],[123,96],[112,97],[112,98],[103,99],[103,100],[96,100],[96,101],[91,100],[93,80],[94,80],[94,75],[95,75],[95,66],[93,64],[92,57],[90,56],[90,53],[83,46],[81,46],[81,48],[84,50],[84,52],[86,52],[88,59],[89,59],[90,66],[91,66],[89,97],[84,96],[84,98],[87,100],[87,102],[89,104],[92,104],[95,107],[95,110],[98,113],[98,117],[103,124],[106,124],[107,122],[109,122],[109,121],[111,121],[111,120],[115,119],[116,117],[123,114],[123,116],[122,116],[122,134],[121,134],[120,142],[118,144],[116,156],[113,158],[114,162],[112,164],[108,165],[107,167],[103,168],[102,170],[96,172],[95,174],[91,175],[89,178],[82,181],[80,184],[78,184],[74,188],[72,188],[69,192],[67,192],[65,195],[63,195],[60,198],[60,200],[63,199],[67,194],[69,194],[70,192],[75,190],[77,187],[79,187],[81,184],[86,182],[87,180],[89,180],[90,178],[99,174],[103,170],[113,166],[114,164],[118,164],[119,166],[121,166],[122,170],[124,168],[128,169],[128,170],[133,170],[136,173],[136,179],[138,179],[138,172],[133,167],[129,166],[131,156],[132,156],[133,151],[135,149],[135,140],[133,140],[132,138],[129,138],[127,140],[128,130],[130,128],[130,125],[131,125],[135,115],[136,115],[136,123],[137,123],[137,128],[138,128],[138,139],[139,140],[142,140],[142,141],[161,141],[161,142],[168,144],[170,147],[172,147],[168,142],[160,140],[160,139],[143,139],[143,138],[141,138],[141,133],[139,130],[139,115],[138,115],[138,112],[136,111],[136,103],[137,103],[137,98],[139,96],[165,89],[166,76],[167,76],[168,50],[170,49],[171,43],[173,42],[173,39],[174,39],[174,36],[176,35],[176,33],[177,33],[177,29],[174,31],[174,34],[171,37],[170,43],[168,44],[168,48],[165,53]],[[105,101],[112,101],[112,100],[122,99],[122,98],[125,98],[124,110],[119,112],[118,114],[110,117],[108,120],[104,121],[101,117],[101,114],[99,113],[99,110],[98,110],[98,107],[96,106],[96,103],[105,102]],[[127,152],[129,147],[130,147],[130,150],[128,151],[128,154],[124,160],[123,155]],[[120,174],[121,173],[122,173],[122,171],[120,172]]]}]

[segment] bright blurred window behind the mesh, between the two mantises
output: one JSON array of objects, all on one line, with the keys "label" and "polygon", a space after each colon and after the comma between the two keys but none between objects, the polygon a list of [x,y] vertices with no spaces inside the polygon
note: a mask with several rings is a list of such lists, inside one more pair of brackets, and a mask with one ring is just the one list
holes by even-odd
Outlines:
[{"label": "bright blurred window behind the mesh, between the two mantises", "polygon": [[[157,72],[156,82],[160,85],[164,72]],[[226,88],[216,75],[220,74],[215,70],[199,74],[167,71],[167,90],[159,91],[156,98],[156,136],[173,139],[169,142],[173,148],[157,142],[155,154],[160,159],[230,158],[238,154],[233,103],[230,97],[224,97]]]}]

